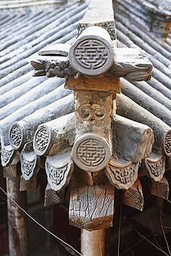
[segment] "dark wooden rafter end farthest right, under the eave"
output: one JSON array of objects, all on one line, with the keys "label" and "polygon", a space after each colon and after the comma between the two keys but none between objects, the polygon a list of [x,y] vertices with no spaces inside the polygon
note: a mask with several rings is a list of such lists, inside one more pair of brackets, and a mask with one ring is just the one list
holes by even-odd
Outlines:
[{"label": "dark wooden rafter end farthest right, under the eave", "polygon": [[152,195],[162,197],[163,199],[168,199],[169,191],[170,191],[169,183],[166,177],[162,177],[162,180],[159,180],[159,182],[155,182],[154,180],[151,180]]}]

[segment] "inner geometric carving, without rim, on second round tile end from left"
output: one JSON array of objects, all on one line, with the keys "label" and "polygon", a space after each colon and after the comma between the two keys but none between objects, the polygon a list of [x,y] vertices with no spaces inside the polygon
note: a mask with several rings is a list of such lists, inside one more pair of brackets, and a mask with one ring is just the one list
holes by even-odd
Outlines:
[{"label": "inner geometric carving, without rim, on second round tile end from left", "polygon": [[49,144],[49,132],[46,127],[42,127],[36,132],[36,138],[34,140],[37,151],[44,151]]}]

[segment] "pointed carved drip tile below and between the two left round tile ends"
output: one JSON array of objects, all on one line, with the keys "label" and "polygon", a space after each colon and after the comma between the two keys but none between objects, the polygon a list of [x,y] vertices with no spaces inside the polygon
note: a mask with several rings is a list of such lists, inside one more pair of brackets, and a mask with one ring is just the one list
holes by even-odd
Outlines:
[{"label": "pointed carved drip tile below and between the two left round tile ends", "polygon": [[37,156],[36,153],[21,153],[21,172],[25,180],[30,180],[33,172],[36,169]]}]

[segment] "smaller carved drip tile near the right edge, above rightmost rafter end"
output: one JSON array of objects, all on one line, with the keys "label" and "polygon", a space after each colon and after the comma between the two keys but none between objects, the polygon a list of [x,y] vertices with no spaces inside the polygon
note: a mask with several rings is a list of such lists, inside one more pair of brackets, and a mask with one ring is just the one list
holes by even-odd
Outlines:
[{"label": "smaller carved drip tile near the right edge, above rightmost rafter end", "polygon": [[145,159],[146,169],[148,175],[155,181],[162,180],[165,172],[165,156],[158,154],[151,154],[151,157]]}]

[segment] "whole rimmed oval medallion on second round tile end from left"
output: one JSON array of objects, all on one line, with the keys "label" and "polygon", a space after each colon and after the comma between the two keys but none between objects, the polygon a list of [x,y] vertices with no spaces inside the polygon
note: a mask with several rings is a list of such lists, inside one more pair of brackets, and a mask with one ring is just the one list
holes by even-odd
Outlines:
[{"label": "whole rimmed oval medallion on second round tile end from left", "polygon": [[46,127],[41,127],[36,131],[33,147],[37,155],[41,156],[46,153],[49,148],[50,140],[51,135]]}]

